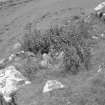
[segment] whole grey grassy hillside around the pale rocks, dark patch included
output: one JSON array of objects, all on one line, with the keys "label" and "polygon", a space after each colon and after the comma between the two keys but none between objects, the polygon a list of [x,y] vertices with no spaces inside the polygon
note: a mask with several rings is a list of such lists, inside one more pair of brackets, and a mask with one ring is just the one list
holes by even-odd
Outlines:
[{"label": "whole grey grassy hillside around the pale rocks, dark patch included", "polygon": [[[31,85],[13,93],[15,98],[12,103],[6,103],[3,100],[0,101],[0,105],[104,105],[105,22],[96,17],[94,11],[102,1],[8,0],[0,2],[0,68],[13,65],[32,82]],[[54,43],[60,40],[57,43],[59,45],[55,45],[58,48],[57,53],[55,49],[53,52],[53,48],[50,48],[52,47],[50,44],[53,43],[48,39],[50,35],[52,39],[56,37],[57,41],[53,39]],[[46,43],[48,42],[49,49],[43,48],[46,44],[44,38],[48,40]],[[63,44],[67,49],[61,43],[63,39],[66,40]],[[23,44],[22,48],[20,44]],[[78,49],[80,52],[77,52]],[[50,54],[58,55],[52,59]],[[66,62],[68,65],[65,66],[63,57],[69,58],[69,54],[71,54],[70,61]],[[81,60],[82,57],[83,60]],[[89,64],[87,64],[88,57],[90,57]],[[72,62],[71,59],[74,62],[70,65],[70,69],[67,68],[70,72],[63,71]],[[43,64],[43,60],[47,60],[48,64],[45,61]],[[75,65],[77,68],[74,67]],[[47,80],[59,80],[65,88],[43,93]]]}]

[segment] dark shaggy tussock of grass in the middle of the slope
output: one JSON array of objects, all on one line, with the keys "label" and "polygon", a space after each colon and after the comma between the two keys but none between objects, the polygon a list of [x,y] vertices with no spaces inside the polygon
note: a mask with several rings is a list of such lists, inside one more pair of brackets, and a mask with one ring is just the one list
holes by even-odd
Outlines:
[{"label": "dark shaggy tussock of grass in the middle of the slope", "polygon": [[89,34],[90,26],[83,20],[74,21],[67,26],[54,26],[41,33],[39,30],[25,34],[22,49],[42,55],[47,53],[53,58],[57,52],[64,52],[64,71],[76,74],[81,68],[89,70],[91,65]]}]

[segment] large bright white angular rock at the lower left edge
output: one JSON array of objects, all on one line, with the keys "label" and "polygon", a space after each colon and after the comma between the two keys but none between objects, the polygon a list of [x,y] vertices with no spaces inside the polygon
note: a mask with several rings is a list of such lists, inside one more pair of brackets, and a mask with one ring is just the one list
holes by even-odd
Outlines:
[{"label": "large bright white angular rock at the lower left edge", "polygon": [[[24,83],[19,85],[18,83],[21,81]],[[12,92],[25,84],[30,84],[30,81],[17,71],[15,66],[11,65],[0,71],[0,93],[6,102],[11,100],[10,94]]]}]

